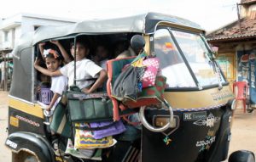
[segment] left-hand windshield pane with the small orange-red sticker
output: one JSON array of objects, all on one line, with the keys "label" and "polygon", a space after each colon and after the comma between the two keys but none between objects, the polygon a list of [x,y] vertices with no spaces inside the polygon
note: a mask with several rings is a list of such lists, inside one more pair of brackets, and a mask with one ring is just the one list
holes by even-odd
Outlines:
[{"label": "left-hand windshield pane with the small orange-red sticker", "polygon": [[196,87],[172,36],[167,29],[159,29],[154,33],[154,53],[160,59],[160,70],[167,78],[167,88]]}]

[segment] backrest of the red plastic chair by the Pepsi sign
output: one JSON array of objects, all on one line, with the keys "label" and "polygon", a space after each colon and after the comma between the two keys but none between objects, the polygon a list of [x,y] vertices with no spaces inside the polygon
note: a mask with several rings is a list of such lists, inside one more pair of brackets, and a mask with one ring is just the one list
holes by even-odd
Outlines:
[{"label": "backrest of the red plastic chair by the Pepsi sign", "polygon": [[236,99],[245,99],[247,95],[247,82],[246,81],[236,81],[233,84],[233,91],[236,95]]}]

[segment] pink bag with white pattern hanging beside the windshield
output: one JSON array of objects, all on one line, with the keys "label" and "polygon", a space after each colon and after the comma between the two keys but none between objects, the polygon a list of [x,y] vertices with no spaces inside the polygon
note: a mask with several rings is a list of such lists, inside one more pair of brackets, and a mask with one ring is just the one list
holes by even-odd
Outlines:
[{"label": "pink bag with white pattern hanging beside the windshield", "polygon": [[152,87],[155,84],[155,77],[159,70],[159,59],[150,58],[143,60],[143,65],[147,67],[143,75],[143,88]]}]

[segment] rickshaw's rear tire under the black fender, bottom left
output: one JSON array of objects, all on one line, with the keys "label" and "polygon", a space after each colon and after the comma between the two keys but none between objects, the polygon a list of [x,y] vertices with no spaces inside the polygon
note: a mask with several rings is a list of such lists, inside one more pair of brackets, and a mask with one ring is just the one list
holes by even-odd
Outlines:
[{"label": "rickshaw's rear tire under the black fender, bottom left", "polygon": [[25,151],[20,151],[18,154],[12,153],[13,162],[38,162],[37,156],[27,153]]}]

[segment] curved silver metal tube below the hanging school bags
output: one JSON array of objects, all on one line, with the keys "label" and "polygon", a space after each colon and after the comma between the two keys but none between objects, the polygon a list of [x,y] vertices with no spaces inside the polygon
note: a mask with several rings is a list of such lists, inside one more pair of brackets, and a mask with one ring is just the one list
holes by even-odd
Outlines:
[{"label": "curved silver metal tube below the hanging school bags", "polygon": [[170,128],[172,126],[173,123],[173,111],[172,111],[172,107],[169,105],[169,103],[167,103],[167,101],[164,99],[163,103],[165,103],[165,105],[167,106],[167,108],[169,109],[170,112],[170,120],[169,122],[166,124],[166,126],[160,127],[160,128],[156,128],[154,126],[151,126],[148,121],[145,119],[145,115],[144,115],[144,110],[146,109],[146,106],[141,107],[140,112],[139,112],[139,117],[140,120],[143,124],[143,126],[145,126],[149,131],[154,131],[154,132],[161,132],[161,131],[166,131],[168,128]]}]

